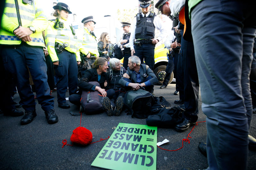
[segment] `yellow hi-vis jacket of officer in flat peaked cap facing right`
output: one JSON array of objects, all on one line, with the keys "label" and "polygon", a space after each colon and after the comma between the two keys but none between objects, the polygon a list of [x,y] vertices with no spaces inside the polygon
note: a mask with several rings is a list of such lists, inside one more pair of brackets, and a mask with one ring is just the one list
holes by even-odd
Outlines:
[{"label": "yellow hi-vis jacket of officer in flat peaked cap facing right", "polygon": [[82,29],[82,35],[78,37],[78,41],[79,51],[84,55],[88,55],[89,53],[97,57],[100,55],[96,37],[90,33],[90,30],[87,27]]}]

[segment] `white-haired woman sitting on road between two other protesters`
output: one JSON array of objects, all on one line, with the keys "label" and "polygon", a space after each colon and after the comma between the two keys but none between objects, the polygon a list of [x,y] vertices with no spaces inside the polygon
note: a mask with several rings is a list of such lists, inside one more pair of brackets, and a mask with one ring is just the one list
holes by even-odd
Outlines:
[{"label": "white-haired woman sitting on road between two other protesters", "polygon": [[126,93],[124,87],[120,85],[118,82],[123,77],[126,70],[121,66],[120,60],[117,58],[111,58],[109,60],[110,69],[107,73],[107,82],[108,89],[115,90],[115,95],[113,96],[113,100],[116,101],[116,107],[114,110],[114,115],[120,115],[124,104],[124,95]]}]

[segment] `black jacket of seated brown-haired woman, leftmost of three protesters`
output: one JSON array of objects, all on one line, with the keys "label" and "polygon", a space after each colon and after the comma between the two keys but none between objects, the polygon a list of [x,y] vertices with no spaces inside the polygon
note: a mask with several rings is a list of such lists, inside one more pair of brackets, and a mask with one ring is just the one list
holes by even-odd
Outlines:
[{"label": "black jacket of seated brown-haired woman, leftmost of three protesters", "polygon": [[89,90],[95,91],[95,87],[96,86],[92,85],[92,84],[90,84],[88,82],[90,82],[90,81],[97,81],[97,82],[100,83],[100,88],[107,90],[107,87],[104,87],[104,82],[107,79],[106,76],[107,76],[106,73],[102,73],[101,77],[100,77],[100,81],[98,81],[98,74],[97,74],[97,69],[96,68],[86,70],[85,73],[84,73],[84,76],[78,82],[78,87],[81,90],[85,90],[85,91],[89,91]]}]

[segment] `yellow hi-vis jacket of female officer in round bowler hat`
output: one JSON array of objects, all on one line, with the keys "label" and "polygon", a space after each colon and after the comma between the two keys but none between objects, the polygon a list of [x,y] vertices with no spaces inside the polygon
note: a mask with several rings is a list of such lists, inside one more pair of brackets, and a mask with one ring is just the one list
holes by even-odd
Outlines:
[{"label": "yellow hi-vis jacket of female officer in round bowler hat", "polygon": [[68,47],[66,47],[65,50],[69,51],[70,53],[75,53],[76,61],[81,61],[80,52],[77,47],[77,37],[73,35],[68,22],[64,19],[59,19],[59,22],[63,23],[63,28],[60,28],[59,24],[57,24],[57,29],[55,29],[54,25],[56,22],[57,19],[51,21],[48,28],[45,30],[45,42],[49,55],[52,58],[52,62],[59,61],[54,48],[55,42],[58,42],[60,45],[63,45],[65,42],[67,42]]}]

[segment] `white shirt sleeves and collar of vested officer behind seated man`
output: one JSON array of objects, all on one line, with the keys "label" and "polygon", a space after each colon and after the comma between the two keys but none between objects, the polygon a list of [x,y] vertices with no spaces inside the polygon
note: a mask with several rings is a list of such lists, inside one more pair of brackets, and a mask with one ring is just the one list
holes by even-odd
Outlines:
[{"label": "white shirt sleeves and collar of vested officer behind seated man", "polygon": [[[148,12],[146,14],[146,17],[148,17],[149,14],[150,14],[150,12]],[[143,13],[142,13],[142,16],[144,17]],[[136,24],[137,24],[137,17],[134,17],[133,23],[131,25],[131,36],[130,36],[130,39],[129,39],[129,44],[130,44],[131,50],[134,49],[134,47],[133,47],[134,46],[133,40],[135,39]],[[159,17],[157,17],[157,16],[155,16],[155,18],[153,20],[153,24],[156,27],[156,29],[160,30],[160,34],[157,37],[157,39],[159,41],[161,41],[162,39],[164,39],[166,37],[167,28],[164,27],[163,21]]]}]

